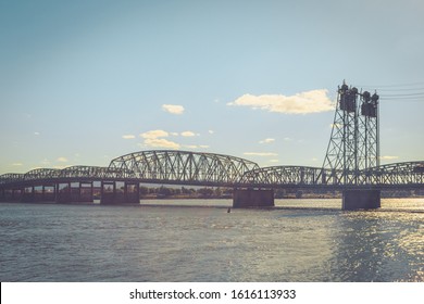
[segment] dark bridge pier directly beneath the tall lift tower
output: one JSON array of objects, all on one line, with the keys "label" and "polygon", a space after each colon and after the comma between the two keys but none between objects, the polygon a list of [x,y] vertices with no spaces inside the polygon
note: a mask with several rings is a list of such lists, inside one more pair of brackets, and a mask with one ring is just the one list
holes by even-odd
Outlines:
[{"label": "dark bridge pier directly beneath the tall lift tower", "polygon": [[379,208],[381,190],[344,190],[341,210]]}]

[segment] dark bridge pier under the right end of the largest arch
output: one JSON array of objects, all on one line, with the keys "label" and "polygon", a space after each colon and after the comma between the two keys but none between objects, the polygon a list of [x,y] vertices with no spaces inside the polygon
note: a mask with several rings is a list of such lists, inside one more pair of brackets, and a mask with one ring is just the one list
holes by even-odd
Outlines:
[{"label": "dark bridge pier under the right end of the largest arch", "polygon": [[235,189],[233,207],[272,207],[274,206],[274,190]]}]

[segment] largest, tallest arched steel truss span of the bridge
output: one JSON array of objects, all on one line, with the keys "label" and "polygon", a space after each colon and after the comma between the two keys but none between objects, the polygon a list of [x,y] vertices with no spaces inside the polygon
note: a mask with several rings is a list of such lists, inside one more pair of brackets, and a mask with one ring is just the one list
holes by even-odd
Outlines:
[{"label": "largest, tallest arched steel truss span of the bridge", "polygon": [[112,160],[110,169],[125,172],[125,178],[147,182],[232,186],[258,164],[239,157],[187,151],[141,151]]}]

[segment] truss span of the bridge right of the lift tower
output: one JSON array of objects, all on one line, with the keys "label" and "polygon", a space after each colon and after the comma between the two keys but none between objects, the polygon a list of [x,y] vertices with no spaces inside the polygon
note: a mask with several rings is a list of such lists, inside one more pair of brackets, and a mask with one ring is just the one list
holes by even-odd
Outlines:
[{"label": "truss span of the bridge right of the lift tower", "polygon": [[424,161],[383,165],[365,174],[371,177],[371,183],[424,186]]}]

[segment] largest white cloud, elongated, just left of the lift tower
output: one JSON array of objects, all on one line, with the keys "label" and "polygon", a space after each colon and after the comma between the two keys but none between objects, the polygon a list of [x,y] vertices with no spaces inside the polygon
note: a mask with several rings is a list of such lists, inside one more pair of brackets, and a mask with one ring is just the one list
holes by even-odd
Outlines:
[{"label": "largest white cloud, elongated, just left of the lift tower", "polygon": [[249,106],[269,112],[287,114],[309,114],[334,110],[334,103],[327,96],[327,90],[312,90],[294,96],[283,94],[244,94],[227,105]]}]

